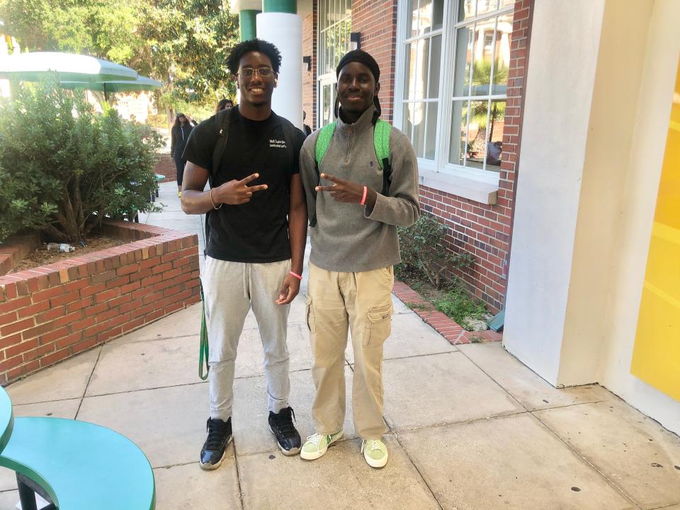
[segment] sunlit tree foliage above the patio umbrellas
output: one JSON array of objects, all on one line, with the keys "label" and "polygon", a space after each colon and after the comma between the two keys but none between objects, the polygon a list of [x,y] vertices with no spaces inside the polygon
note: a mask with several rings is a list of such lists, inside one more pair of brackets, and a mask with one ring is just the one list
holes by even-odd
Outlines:
[{"label": "sunlit tree foliage above the patio umbrellas", "polygon": [[238,18],[216,0],[0,0],[26,50],[94,55],[164,82],[162,106],[234,95],[227,53]]}]

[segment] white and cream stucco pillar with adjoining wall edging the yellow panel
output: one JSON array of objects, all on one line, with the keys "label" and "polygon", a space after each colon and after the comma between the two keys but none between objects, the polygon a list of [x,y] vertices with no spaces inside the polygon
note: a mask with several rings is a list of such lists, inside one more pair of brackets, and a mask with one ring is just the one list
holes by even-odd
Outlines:
[{"label": "white and cream stucco pillar with adjoining wall edging the yellow panel", "polygon": [[676,0],[536,0],[504,344],[680,433],[680,402],[630,374],[679,19]]}]

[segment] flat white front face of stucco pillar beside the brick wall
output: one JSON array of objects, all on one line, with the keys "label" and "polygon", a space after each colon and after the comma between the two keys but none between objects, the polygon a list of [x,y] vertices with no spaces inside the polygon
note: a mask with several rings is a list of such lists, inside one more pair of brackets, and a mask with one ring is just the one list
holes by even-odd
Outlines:
[{"label": "flat white front face of stucco pillar beside the brick wall", "polygon": [[558,384],[604,0],[536,0],[504,344]]}]

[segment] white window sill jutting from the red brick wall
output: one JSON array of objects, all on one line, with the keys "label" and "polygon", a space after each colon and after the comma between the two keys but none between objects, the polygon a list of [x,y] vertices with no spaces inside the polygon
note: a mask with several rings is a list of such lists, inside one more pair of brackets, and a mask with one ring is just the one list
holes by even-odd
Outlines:
[{"label": "white window sill jutting from the red brick wall", "polygon": [[418,182],[422,186],[434,188],[451,195],[461,196],[487,205],[494,205],[498,198],[498,181],[486,176],[462,175],[453,170],[451,173],[434,171],[419,165]]}]

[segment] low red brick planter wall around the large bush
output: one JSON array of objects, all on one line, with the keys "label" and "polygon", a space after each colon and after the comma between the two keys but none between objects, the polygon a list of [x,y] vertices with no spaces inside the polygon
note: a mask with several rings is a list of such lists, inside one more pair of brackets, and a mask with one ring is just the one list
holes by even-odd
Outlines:
[{"label": "low red brick planter wall around the large bush", "polygon": [[200,301],[198,237],[130,222],[130,243],[0,277],[0,383]]}]

